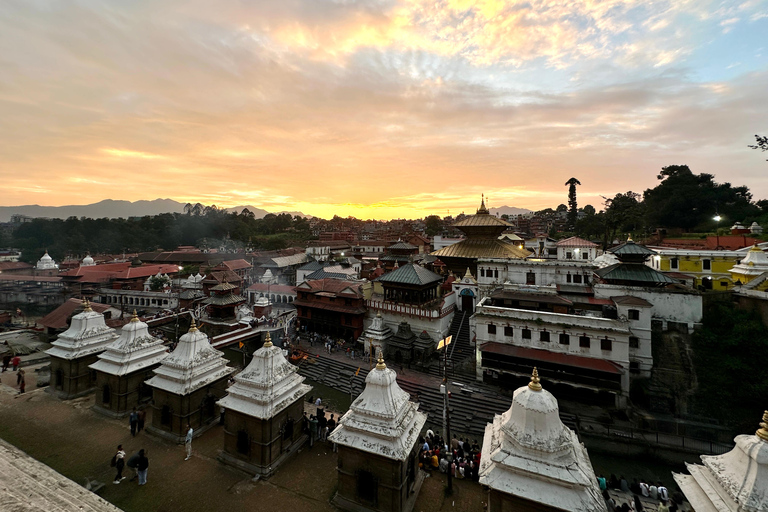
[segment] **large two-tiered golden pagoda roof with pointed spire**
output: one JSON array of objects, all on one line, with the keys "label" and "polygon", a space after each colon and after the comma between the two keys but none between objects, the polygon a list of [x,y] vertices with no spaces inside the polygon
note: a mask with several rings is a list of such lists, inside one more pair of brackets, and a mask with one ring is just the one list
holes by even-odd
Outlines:
[{"label": "large two-tiered golden pagoda roof with pointed spire", "polygon": [[453,226],[461,230],[466,238],[443,247],[432,255],[440,258],[447,269],[457,275],[464,275],[467,268],[476,275],[478,258],[522,259],[531,254],[518,245],[499,240],[499,236],[511,224],[491,215],[485,207],[485,199],[480,203],[475,215],[470,215]]}]

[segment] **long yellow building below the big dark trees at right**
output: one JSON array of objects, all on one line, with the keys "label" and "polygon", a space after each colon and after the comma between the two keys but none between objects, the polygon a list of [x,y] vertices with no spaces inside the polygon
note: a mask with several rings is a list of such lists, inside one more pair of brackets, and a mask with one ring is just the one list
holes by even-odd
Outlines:
[{"label": "long yellow building below the big dark trees at right", "polygon": [[[745,253],[741,251],[698,251],[650,247],[658,254],[646,263],[662,272],[679,272],[694,278],[695,285],[706,290],[729,290],[735,285],[731,269]],[[741,281],[742,283],[744,281]]]}]

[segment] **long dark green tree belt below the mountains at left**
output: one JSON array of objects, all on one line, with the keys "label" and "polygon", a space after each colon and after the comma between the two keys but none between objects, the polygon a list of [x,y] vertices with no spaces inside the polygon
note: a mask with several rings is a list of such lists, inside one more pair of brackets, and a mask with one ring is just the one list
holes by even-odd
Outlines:
[{"label": "long dark green tree belt below the mountains at left", "polygon": [[185,207],[184,214],[130,219],[35,219],[16,228],[9,244],[22,250],[25,261],[34,262],[46,249],[61,261],[68,254],[171,250],[179,245],[282,249],[309,237],[309,223],[298,216],[256,219],[248,212],[197,206]]}]

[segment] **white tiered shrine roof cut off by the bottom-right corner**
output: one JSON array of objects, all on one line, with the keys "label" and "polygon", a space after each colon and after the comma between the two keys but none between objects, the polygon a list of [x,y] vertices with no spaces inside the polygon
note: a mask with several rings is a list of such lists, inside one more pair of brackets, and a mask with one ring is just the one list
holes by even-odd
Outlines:
[{"label": "white tiered shrine roof cut off by the bottom-right corner", "polygon": [[768,511],[768,411],[757,432],[734,441],[728,453],[686,464],[690,475],[672,474],[696,512]]}]

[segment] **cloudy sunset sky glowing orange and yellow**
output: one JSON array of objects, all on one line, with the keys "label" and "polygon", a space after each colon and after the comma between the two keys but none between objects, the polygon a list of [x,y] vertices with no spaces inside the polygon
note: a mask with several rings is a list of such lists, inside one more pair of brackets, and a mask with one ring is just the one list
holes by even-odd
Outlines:
[{"label": "cloudy sunset sky glowing orange and yellow", "polygon": [[0,204],[329,218],[768,198],[768,0],[0,2]]}]

